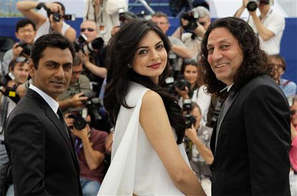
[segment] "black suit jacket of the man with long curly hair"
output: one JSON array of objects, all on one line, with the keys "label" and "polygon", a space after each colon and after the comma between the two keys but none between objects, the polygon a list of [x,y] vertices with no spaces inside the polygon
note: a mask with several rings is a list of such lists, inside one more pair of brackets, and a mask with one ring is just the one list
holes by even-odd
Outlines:
[{"label": "black suit jacket of the man with long curly hair", "polygon": [[267,75],[252,79],[223,119],[211,138],[212,195],[290,195],[290,111],[277,83]]}]

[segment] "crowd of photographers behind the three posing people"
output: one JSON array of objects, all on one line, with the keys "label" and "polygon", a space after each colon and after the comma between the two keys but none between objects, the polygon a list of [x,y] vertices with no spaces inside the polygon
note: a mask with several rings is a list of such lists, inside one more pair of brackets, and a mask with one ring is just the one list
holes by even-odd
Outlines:
[{"label": "crowd of photographers behind the three posing people", "polygon": [[[242,6],[235,13],[240,17],[245,8],[250,16],[248,23],[259,35],[261,47],[271,55],[271,62],[279,72],[280,87],[290,98],[296,95],[296,84],[282,78],[286,69],[285,60],[279,55],[280,41],[285,28],[284,17],[270,6],[271,1],[243,0]],[[65,115],[65,122],[71,128],[80,168],[81,185],[84,195],[96,195],[103,181],[109,164],[113,125],[108,122],[103,107],[104,87],[107,77],[105,67],[107,43],[121,26],[131,20],[147,19],[144,14],[128,11],[128,1],[87,1],[84,21],[80,25],[80,35],[65,22],[75,20],[74,15],[65,14],[65,7],[59,2],[38,3],[20,1],[17,9],[27,17],[18,21],[15,36],[19,42],[8,50],[2,62],[0,83],[0,131],[11,110],[26,93],[30,85],[29,65],[32,43],[40,36],[50,32],[58,32],[67,37],[76,50],[73,70],[68,89],[59,96],[58,103]],[[256,9],[261,15],[256,15]],[[37,10],[44,9],[47,17]],[[170,75],[165,80],[164,88],[176,96],[187,125],[185,148],[193,171],[199,176],[202,186],[211,195],[211,172],[209,165],[213,162],[210,150],[212,127],[224,99],[208,94],[201,82],[200,57],[201,41],[211,23],[209,9],[203,6],[185,12],[180,18],[180,27],[171,36],[167,35],[170,23],[163,12],[155,12],[151,16],[171,42],[168,54],[171,66]],[[291,104],[292,114],[292,150],[291,164],[293,191],[297,194],[297,160],[296,160],[296,107],[294,97]],[[0,189],[13,195],[12,182],[7,171],[8,157],[4,148],[4,136],[1,132],[0,141]],[[5,182],[4,182],[5,181]],[[295,186],[293,186],[295,183]],[[0,194],[1,194],[0,190]]]}]

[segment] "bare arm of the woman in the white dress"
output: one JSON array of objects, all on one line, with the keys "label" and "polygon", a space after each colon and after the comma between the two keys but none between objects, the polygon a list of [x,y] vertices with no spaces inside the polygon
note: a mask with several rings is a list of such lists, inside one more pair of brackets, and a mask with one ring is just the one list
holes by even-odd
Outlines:
[{"label": "bare arm of the woman in the white dress", "polygon": [[147,91],[143,96],[139,121],[174,184],[186,195],[206,195],[178,149],[164,103],[156,92]]}]

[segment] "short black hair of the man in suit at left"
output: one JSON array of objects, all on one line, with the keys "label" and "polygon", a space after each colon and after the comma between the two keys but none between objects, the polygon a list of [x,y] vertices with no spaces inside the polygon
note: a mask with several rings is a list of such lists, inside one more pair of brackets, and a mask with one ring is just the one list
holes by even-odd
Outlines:
[{"label": "short black hair of the man in suit at left", "polygon": [[[75,49],[72,46],[72,43],[68,38],[62,36],[60,33],[50,33],[43,36],[40,36],[33,44],[31,50],[31,59],[33,61],[35,69],[38,68],[38,63],[40,58],[43,56],[43,51],[47,47],[66,49],[68,48],[72,54],[72,59],[75,59]],[[72,61],[73,61],[72,60]]]}]

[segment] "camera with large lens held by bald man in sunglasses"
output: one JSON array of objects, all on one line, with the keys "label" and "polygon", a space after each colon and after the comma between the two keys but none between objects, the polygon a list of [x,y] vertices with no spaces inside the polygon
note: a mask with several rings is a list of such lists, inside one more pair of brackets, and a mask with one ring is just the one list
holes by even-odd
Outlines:
[{"label": "camera with large lens held by bald man in sunglasses", "polygon": [[86,43],[87,37],[82,34],[78,37],[75,42],[73,42],[73,47],[75,48],[76,52],[80,50],[84,54],[90,54],[95,50],[100,50],[104,46],[104,40],[102,38],[96,38],[90,43]]}]

